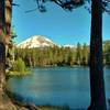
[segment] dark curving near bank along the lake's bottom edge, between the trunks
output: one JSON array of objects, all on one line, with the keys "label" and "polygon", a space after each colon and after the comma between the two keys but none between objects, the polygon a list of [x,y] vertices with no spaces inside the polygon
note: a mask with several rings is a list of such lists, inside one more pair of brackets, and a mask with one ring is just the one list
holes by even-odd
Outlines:
[{"label": "dark curving near bank along the lake's bottom edge, between the trunks", "polygon": [[[70,108],[69,106],[66,106],[66,105],[64,105],[64,106],[52,106],[52,105],[37,106],[33,102],[32,103],[31,102],[21,102],[21,101],[16,100],[14,98],[14,94],[9,91],[8,89],[6,90],[6,92],[15,106],[19,106],[21,108],[26,108],[23,110],[87,110],[86,108]],[[22,110],[22,109],[20,109],[20,110]]]}]

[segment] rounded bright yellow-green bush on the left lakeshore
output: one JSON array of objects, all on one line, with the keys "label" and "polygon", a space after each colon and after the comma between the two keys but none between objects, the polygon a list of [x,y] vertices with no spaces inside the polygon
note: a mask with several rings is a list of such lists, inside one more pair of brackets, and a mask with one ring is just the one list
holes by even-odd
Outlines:
[{"label": "rounded bright yellow-green bush on the left lakeshore", "polygon": [[20,72],[20,73],[25,72],[25,64],[22,61],[22,58],[18,58],[16,61],[14,61],[12,70],[13,72]]}]

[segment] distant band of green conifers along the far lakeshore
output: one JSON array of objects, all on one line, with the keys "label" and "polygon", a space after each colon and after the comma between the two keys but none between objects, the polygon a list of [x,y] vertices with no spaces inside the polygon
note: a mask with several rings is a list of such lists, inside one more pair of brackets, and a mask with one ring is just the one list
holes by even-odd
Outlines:
[{"label": "distant band of green conifers along the far lakeshore", "polygon": [[[15,59],[22,58],[26,66],[73,66],[89,64],[89,46],[15,48]],[[103,43],[103,64],[110,65],[110,42]]]}]

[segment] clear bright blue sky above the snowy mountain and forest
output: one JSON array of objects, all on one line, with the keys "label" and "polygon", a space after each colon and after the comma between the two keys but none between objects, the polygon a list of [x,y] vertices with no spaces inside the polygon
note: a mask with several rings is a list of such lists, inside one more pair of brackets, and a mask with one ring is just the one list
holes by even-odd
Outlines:
[{"label": "clear bright blue sky above the snowy mountain and forest", "polygon": [[[12,25],[18,37],[16,43],[32,35],[44,35],[53,42],[64,44],[87,43],[90,41],[90,14],[84,7],[64,11],[54,3],[47,3],[47,12],[38,10],[25,13],[36,8],[34,0],[14,0],[20,7],[13,7]],[[110,15],[103,14],[103,40],[110,40]]]}]

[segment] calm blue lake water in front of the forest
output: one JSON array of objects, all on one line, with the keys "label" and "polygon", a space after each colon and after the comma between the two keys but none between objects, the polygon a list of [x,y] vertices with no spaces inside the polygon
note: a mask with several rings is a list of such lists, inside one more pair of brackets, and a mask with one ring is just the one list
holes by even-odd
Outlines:
[{"label": "calm blue lake water in front of the forest", "polygon": [[[106,96],[110,98],[110,68],[105,68]],[[87,108],[90,103],[88,67],[36,67],[24,77],[8,80],[20,101],[35,105]]]}]

